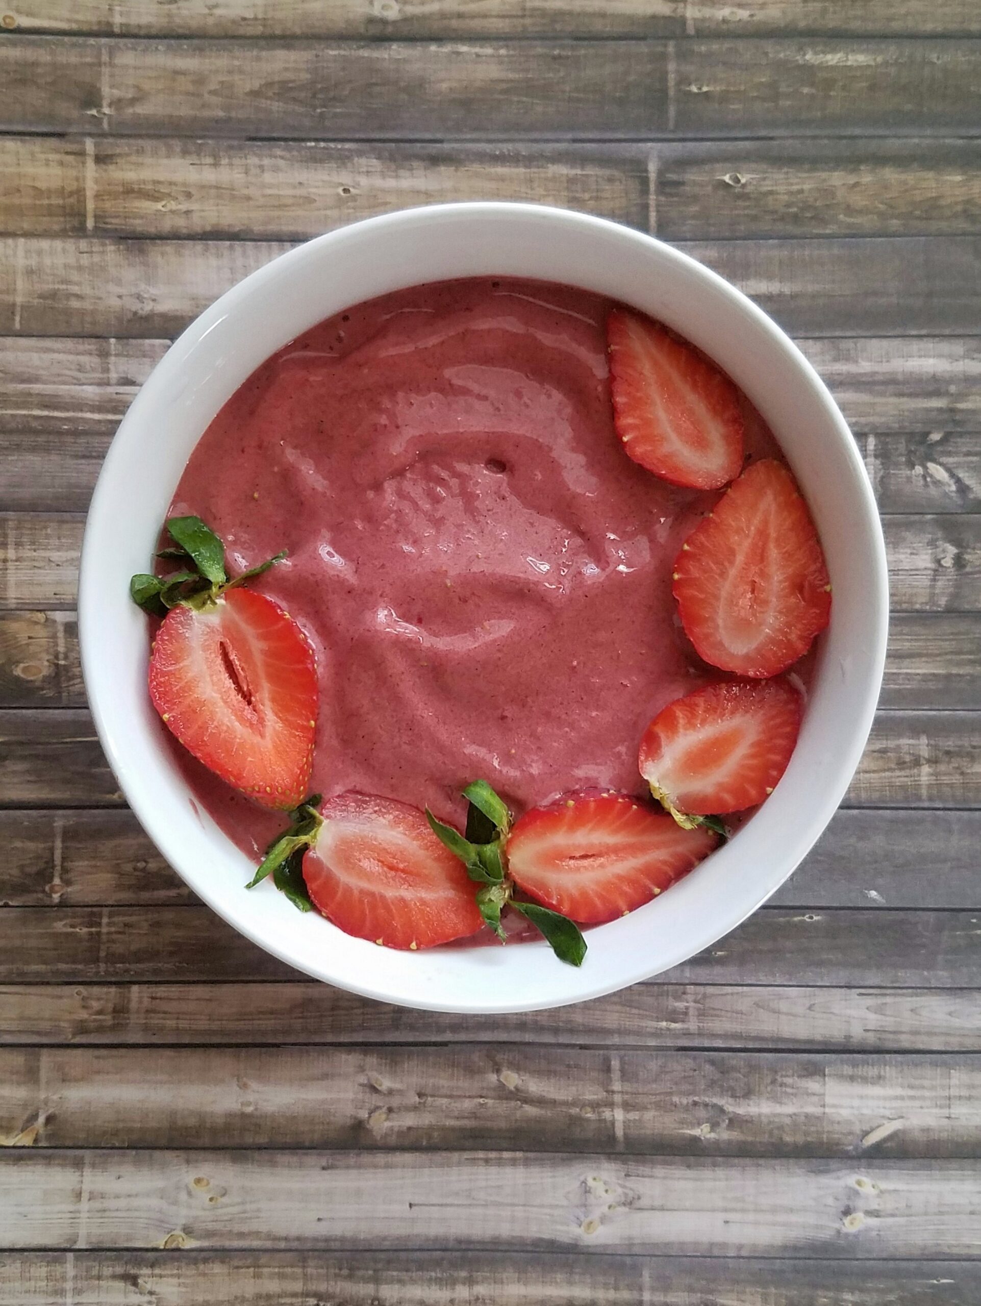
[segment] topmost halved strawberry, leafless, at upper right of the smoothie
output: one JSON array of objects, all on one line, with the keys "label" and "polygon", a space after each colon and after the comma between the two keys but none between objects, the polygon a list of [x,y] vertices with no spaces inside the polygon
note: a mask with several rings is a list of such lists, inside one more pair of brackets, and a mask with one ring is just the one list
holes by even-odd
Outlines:
[{"label": "topmost halved strawberry, leafless, at upper right of the smoothie", "polygon": [[614,424],[635,462],[677,486],[720,490],[739,474],[739,392],[660,323],[623,308],[606,319]]}]

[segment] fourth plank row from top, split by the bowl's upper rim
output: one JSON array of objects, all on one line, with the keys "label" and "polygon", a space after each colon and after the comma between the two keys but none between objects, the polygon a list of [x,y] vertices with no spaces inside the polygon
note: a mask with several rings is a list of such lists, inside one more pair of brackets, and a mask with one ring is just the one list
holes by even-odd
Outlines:
[{"label": "fourth plank row from top, split by the bowl's upper rim", "polygon": [[[0,332],[171,336],[280,242],[0,238]],[[981,236],[688,242],[799,336],[965,336],[981,320]],[[921,430],[917,423],[908,430]]]}]

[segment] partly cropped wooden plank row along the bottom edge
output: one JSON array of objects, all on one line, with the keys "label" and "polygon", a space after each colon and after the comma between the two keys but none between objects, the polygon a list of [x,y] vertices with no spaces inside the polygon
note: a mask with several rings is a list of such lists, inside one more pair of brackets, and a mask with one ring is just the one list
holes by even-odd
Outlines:
[{"label": "partly cropped wooden plank row along the bottom edge", "polygon": [[[4,1256],[9,1306],[976,1306],[965,1260],[567,1254],[69,1251]],[[16,1296],[9,1296],[16,1294]]]}]

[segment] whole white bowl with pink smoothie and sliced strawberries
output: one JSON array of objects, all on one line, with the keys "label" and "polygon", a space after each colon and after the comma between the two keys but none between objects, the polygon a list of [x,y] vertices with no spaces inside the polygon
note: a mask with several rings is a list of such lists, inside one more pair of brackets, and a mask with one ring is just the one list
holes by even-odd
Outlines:
[{"label": "whole white bowl with pink smoothie and sliced strawberries", "polygon": [[852,778],[886,624],[796,346],[657,240],[508,204],[213,304],[119,428],[80,582],[101,741],[191,888],[311,976],[474,1013],[759,906]]}]

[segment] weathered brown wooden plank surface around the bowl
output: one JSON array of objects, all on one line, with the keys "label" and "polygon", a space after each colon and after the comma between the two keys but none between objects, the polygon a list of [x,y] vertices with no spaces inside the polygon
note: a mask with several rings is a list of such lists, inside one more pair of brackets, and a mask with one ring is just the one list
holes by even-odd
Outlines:
[{"label": "weathered brown wooden plank surface around the bowl", "polygon": [[[4,1303],[981,1301],[978,38],[978,0],[0,5]],[[895,618],[771,905],[613,998],[456,1019],[192,899],[72,606],[167,341],[293,242],[472,197],[654,231],[769,310],[862,447]]]}]

